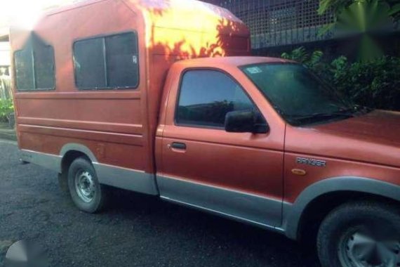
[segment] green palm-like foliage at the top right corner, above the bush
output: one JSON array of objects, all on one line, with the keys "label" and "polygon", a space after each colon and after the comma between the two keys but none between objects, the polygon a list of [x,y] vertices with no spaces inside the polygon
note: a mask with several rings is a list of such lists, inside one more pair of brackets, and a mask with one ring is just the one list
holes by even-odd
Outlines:
[{"label": "green palm-like foliage at the top right corner, above the bush", "polygon": [[326,25],[323,31],[333,27],[348,34],[359,36],[359,57],[361,60],[372,60],[382,56],[382,50],[376,39],[382,28],[392,25],[399,18],[399,0],[390,4],[382,0],[321,0],[319,14],[330,10],[334,13],[334,22]]}]

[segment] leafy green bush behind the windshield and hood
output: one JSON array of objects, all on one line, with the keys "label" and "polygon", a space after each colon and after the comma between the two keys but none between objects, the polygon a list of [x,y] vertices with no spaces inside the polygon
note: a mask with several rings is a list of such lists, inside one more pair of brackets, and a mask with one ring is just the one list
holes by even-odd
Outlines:
[{"label": "leafy green bush behind the windshield and hood", "polygon": [[[371,61],[350,63],[345,56],[324,62],[316,51],[309,56],[304,48],[282,54],[307,65],[354,103],[370,108],[400,111],[400,58],[384,56]],[[307,56],[308,55],[308,56]]]}]

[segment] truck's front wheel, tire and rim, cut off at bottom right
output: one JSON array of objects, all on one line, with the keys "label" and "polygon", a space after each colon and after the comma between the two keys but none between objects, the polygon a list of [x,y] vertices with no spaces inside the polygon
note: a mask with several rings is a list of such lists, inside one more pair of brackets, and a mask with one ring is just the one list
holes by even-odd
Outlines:
[{"label": "truck's front wheel, tire and rim, cut off at bottom right", "polygon": [[344,204],[321,223],[317,247],[324,267],[399,267],[399,209],[377,202]]}]

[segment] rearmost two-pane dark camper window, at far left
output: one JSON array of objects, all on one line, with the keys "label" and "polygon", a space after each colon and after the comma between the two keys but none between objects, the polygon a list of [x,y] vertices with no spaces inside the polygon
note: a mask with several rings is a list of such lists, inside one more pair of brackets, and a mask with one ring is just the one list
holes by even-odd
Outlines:
[{"label": "rearmost two-pane dark camper window, at far left", "polygon": [[15,78],[19,91],[54,89],[54,50],[36,34],[15,52]]}]

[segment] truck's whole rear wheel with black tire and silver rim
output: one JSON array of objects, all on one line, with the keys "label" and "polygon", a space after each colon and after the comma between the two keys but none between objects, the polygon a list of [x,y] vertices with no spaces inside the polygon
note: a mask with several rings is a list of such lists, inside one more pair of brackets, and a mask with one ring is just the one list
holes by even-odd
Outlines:
[{"label": "truck's whole rear wheel with black tire and silver rim", "polygon": [[95,213],[105,206],[107,188],[100,185],[93,165],[84,157],[75,159],[69,167],[68,188],[72,201],[82,211]]}]

